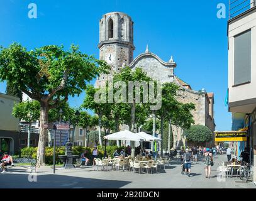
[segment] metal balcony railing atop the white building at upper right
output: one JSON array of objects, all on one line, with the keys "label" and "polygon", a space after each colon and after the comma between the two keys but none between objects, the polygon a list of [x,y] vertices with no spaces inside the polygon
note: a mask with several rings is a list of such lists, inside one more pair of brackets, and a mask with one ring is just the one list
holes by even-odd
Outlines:
[{"label": "metal balcony railing atop the white building at upper right", "polygon": [[229,4],[229,18],[231,19],[256,6],[256,0],[230,0]]}]

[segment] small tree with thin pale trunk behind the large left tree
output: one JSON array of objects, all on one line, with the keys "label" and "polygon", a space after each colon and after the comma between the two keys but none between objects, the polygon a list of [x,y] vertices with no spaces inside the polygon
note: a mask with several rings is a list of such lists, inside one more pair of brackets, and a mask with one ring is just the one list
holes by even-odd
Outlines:
[{"label": "small tree with thin pale trunk behind the large left tree", "polygon": [[28,147],[30,147],[31,123],[40,117],[40,103],[37,100],[26,100],[15,104],[13,116],[28,122]]}]

